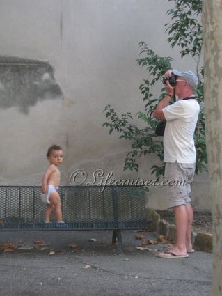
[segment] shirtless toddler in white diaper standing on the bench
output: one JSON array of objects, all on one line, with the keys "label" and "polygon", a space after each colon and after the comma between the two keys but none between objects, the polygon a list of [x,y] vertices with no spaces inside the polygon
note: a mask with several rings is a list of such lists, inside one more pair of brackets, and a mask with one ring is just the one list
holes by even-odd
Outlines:
[{"label": "shirtless toddler in white diaper standing on the bench", "polygon": [[61,199],[58,194],[58,186],[60,184],[60,171],[58,166],[63,161],[63,150],[58,145],[49,147],[47,152],[49,167],[42,178],[42,194],[41,198],[44,203],[47,203],[45,211],[45,223],[50,222],[51,213],[55,210],[56,221],[64,223],[61,210]]}]

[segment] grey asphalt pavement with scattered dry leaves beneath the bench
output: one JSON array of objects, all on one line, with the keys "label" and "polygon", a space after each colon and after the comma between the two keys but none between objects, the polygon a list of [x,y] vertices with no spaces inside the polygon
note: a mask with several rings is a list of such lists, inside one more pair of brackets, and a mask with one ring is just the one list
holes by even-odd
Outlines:
[{"label": "grey asphalt pavement with scattered dry leaves beneath the bench", "polygon": [[20,249],[0,251],[0,296],[209,295],[212,254],[162,259],[156,255],[167,244],[141,251],[135,235],[157,240],[154,232],[122,231],[118,255],[111,231],[1,232],[1,245]]}]

